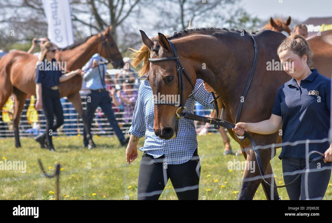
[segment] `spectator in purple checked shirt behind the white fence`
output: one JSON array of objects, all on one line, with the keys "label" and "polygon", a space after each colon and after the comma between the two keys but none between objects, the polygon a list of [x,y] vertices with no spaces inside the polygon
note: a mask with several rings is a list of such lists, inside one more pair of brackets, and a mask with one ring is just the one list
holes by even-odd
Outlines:
[{"label": "spectator in purple checked shirt behind the white fence", "polygon": [[138,92],[133,89],[134,82],[126,79],[122,83],[122,91],[117,92],[117,96],[115,95],[115,89],[111,90],[112,99],[115,106],[120,106],[123,104],[124,106],[124,115],[123,121],[125,122],[124,127],[130,127],[130,121],[132,115],[134,113],[136,100],[138,97]]}]

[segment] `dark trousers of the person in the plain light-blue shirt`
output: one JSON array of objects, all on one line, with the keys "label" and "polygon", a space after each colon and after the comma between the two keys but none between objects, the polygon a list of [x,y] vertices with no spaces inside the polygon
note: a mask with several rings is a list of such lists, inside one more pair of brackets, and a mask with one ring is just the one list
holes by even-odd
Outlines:
[{"label": "dark trousers of the person in the plain light-blue shirt", "polygon": [[[90,96],[90,98],[89,98]],[[94,117],[95,111],[98,106],[100,106],[107,117],[110,126],[115,131],[115,134],[118,136],[120,142],[124,139],[124,134],[122,133],[118,121],[115,119],[114,112],[112,109],[111,98],[109,96],[108,91],[98,92],[98,91],[91,91],[91,93],[87,96],[87,104],[86,104],[86,115],[88,119],[88,127],[91,129],[92,119]],[[90,99],[90,102],[89,102]],[[86,138],[86,131],[85,128],[83,130],[83,142],[84,145],[88,145],[89,142]]]}]

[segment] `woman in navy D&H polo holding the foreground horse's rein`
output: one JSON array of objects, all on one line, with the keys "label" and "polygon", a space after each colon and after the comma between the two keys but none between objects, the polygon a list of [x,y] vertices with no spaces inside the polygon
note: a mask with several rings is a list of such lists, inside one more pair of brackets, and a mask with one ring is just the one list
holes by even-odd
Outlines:
[{"label": "woman in navy D&H polo holding the foreground horse's rein", "polygon": [[[304,37],[292,33],[278,47],[281,62],[291,62],[293,67],[284,63],[285,71],[292,79],[283,84],[277,93],[270,119],[256,123],[236,123],[233,130],[243,135],[244,130],[258,134],[272,134],[281,124],[283,142],[306,139],[328,138],[331,114],[331,79],[320,75],[317,69],[310,70],[312,51]],[[309,172],[305,188],[305,175],[287,186],[290,200],[323,199],[332,166],[332,144],[309,143],[309,152],[316,150],[324,153],[324,162],[316,161],[310,169],[324,169]],[[283,146],[279,156],[283,172],[294,172],[305,168],[305,144]],[[319,156],[313,153],[310,158]],[[292,182],[297,174],[284,176],[285,184]],[[308,197],[305,192],[308,192]]]}]

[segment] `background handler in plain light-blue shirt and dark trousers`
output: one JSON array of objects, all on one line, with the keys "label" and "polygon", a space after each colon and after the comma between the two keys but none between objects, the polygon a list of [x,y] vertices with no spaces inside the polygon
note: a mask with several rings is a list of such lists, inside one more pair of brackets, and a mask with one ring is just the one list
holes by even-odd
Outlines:
[{"label": "background handler in plain light-blue shirt and dark trousers", "polygon": [[[88,121],[88,127],[91,129],[92,119],[94,113],[98,106],[100,106],[107,117],[110,126],[115,131],[121,146],[127,145],[129,138],[125,138],[122,133],[118,121],[115,119],[114,111],[112,109],[112,99],[109,96],[107,91],[107,85],[105,82],[105,75],[107,75],[106,64],[99,64],[100,62],[105,62],[105,59],[102,58],[98,53],[94,54],[89,60],[88,66],[85,69],[85,74],[83,75],[84,81],[86,81],[86,87],[91,91],[88,94],[90,100],[87,101],[86,106],[86,115]],[[95,145],[90,145],[86,138],[86,131],[83,129],[83,143],[84,147],[92,149]]]}]

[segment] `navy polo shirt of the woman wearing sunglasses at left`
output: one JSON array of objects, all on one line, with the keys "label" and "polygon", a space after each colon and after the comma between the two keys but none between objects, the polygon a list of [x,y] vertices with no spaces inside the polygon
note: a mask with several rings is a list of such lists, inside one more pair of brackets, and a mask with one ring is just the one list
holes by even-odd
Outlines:
[{"label": "navy polo shirt of the woman wearing sunglasses at left", "polygon": [[[59,66],[53,66],[55,59],[52,59],[52,63],[49,61],[42,60],[36,68],[35,83],[41,83],[43,88],[51,88],[60,84],[59,78],[62,76]],[[46,69],[45,69],[46,68]]]}]

